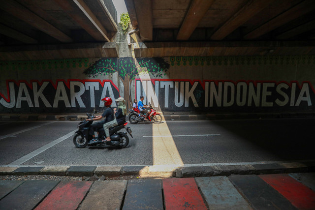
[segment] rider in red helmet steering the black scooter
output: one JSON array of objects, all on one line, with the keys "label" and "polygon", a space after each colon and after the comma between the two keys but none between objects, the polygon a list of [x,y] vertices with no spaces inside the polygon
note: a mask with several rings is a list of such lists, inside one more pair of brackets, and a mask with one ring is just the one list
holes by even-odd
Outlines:
[{"label": "rider in red helmet steering the black scooter", "polygon": [[89,134],[93,136],[93,139],[89,142],[89,144],[92,144],[98,141],[98,138],[96,138],[94,134],[95,130],[103,127],[103,124],[105,124],[106,122],[110,122],[114,120],[114,110],[111,107],[113,100],[110,97],[105,97],[102,99],[102,101],[104,101],[105,107],[106,107],[104,113],[102,115],[95,116],[94,119],[87,119],[87,121],[91,121],[91,120],[94,121],[94,120],[101,120],[102,118],[105,118],[102,121],[98,121],[90,125]]}]

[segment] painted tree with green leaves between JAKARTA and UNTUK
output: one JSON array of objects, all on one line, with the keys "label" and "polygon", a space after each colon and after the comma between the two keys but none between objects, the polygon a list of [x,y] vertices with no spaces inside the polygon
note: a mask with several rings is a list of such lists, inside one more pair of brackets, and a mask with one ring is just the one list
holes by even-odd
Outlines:
[{"label": "painted tree with green leaves between JAKARTA and UNTUK", "polygon": [[123,81],[126,103],[130,105],[131,82],[141,73],[148,71],[153,78],[161,78],[169,69],[170,64],[163,58],[101,58],[93,63],[89,68],[84,70],[84,74],[95,78],[101,75],[111,75],[118,72]]}]

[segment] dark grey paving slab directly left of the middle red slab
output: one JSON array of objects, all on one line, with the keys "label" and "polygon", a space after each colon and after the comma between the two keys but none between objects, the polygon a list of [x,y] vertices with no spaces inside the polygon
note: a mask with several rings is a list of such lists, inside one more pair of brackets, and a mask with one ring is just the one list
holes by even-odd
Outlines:
[{"label": "dark grey paving slab directly left of the middle red slab", "polygon": [[163,210],[161,180],[128,180],[123,210]]}]

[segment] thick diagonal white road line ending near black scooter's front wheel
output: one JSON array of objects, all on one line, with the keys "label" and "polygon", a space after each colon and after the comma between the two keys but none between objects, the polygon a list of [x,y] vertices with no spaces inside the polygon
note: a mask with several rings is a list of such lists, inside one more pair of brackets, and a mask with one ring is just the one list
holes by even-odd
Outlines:
[{"label": "thick diagonal white road line ending near black scooter's front wheel", "polygon": [[35,151],[32,151],[31,153],[21,157],[20,159],[17,159],[16,161],[8,164],[8,166],[19,166],[22,163],[25,163],[26,161],[28,161],[31,158],[35,157],[36,155],[42,153],[43,151],[48,150],[49,148],[57,145],[58,143],[62,142],[65,139],[69,138],[70,136],[72,136],[75,133],[75,131],[77,131],[77,130],[71,131],[70,133],[64,135],[63,137],[60,137],[59,139],[56,139],[55,141],[53,141],[53,142],[35,150]]}]

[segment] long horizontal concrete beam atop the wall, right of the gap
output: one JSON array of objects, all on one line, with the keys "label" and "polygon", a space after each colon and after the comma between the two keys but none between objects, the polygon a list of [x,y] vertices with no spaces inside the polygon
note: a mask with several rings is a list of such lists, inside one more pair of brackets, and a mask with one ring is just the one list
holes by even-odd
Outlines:
[{"label": "long horizontal concrete beam atop the wall, right of the gap", "polygon": [[315,41],[134,43],[135,57],[308,55]]}]

